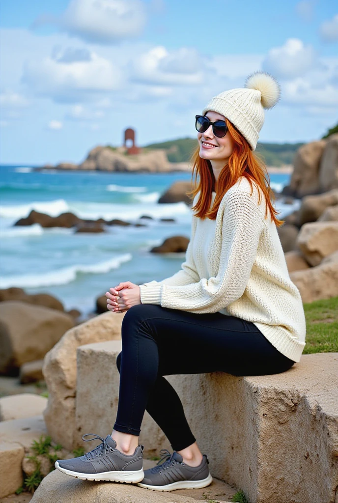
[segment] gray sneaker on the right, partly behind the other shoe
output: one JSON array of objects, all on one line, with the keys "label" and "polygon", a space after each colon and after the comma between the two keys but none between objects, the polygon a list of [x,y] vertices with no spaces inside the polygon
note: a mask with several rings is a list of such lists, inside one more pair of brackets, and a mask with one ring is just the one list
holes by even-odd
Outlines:
[{"label": "gray sneaker on the right, partly behind the other shoe", "polygon": [[[212,482],[209,473],[209,460],[203,454],[199,466],[189,466],[183,462],[183,457],[174,451],[171,454],[167,449],[162,449],[164,456],[157,465],[144,471],[144,479],[137,485],[155,491],[173,491],[174,489],[200,489]],[[161,461],[165,461],[161,463]]]}]

